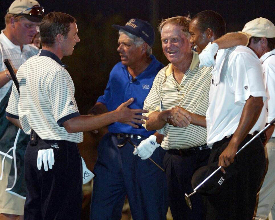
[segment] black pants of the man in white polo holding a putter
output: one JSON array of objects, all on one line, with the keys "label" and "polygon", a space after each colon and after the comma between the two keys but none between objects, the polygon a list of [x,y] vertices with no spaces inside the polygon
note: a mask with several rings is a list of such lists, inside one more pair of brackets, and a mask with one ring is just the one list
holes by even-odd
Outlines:
[{"label": "black pants of the man in white polo holding a putter", "polygon": [[[247,135],[239,149],[252,137],[252,135]],[[230,138],[213,145],[208,164],[219,160],[219,155],[227,147],[229,141]],[[234,158],[237,174],[225,180],[217,194],[206,196],[207,219],[251,220],[265,164],[264,146],[258,137]]]}]

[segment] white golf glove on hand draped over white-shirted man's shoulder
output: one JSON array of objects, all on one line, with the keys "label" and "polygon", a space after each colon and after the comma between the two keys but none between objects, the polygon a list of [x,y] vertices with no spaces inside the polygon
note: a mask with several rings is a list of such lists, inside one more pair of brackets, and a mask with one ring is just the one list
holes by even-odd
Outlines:
[{"label": "white golf glove on hand draped over white-shirted man's shoulder", "polygon": [[214,43],[207,44],[207,46],[202,50],[202,52],[199,54],[200,59],[200,65],[199,68],[202,68],[203,66],[211,67],[215,66],[216,62],[214,59],[214,56],[217,54],[217,51],[219,50],[219,46]]}]

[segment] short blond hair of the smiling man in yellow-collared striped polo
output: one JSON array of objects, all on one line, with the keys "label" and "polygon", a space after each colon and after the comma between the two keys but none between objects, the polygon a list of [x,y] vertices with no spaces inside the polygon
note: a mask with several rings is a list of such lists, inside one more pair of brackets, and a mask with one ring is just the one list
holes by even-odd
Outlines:
[{"label": "short blond hair of the smiling man in yellow-collared striped polo", "polygon": [[165,24],[178,24],[178,25],[182,26],[182,31],[186,35],[186,37],[189,37],[190,36],[190,33],[189,33],[190,21],[191,21],[191,19],[190,19],[189,15],[187,17],[186,16],[176,16],[176,17],[172,17],[172,18],[162,19],[158,26],[158,30],[159,30],[159,33],[161,34],[162,28]]}]

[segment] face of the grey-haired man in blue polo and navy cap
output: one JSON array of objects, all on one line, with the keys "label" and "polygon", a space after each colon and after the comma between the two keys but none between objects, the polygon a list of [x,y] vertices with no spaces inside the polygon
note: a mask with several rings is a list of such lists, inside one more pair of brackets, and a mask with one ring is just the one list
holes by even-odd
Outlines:
[{"label": "face of the grey-haired man in blue polo and navy cap", "polygon": [[117,50],[119,52],[122,64],[128,67],[136,66],[142,57],[142,45],[137,47],[124,33],[120,34],[118,38],[118,45]]}]

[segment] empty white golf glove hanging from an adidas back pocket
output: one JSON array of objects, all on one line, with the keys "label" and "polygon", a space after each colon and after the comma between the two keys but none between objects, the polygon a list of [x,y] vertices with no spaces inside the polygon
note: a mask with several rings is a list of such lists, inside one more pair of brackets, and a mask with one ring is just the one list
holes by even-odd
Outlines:
[{"label": "empty white golf glove hanging from an adidas back pocket", "polygon": [[54,165],[54,149],[42,149],[38,150],[37,154],[37,168],[41,170],[42,161],[44,164],[44,170],[48,171],[48,164],[49,168],[52,169],[52,165]]}]

